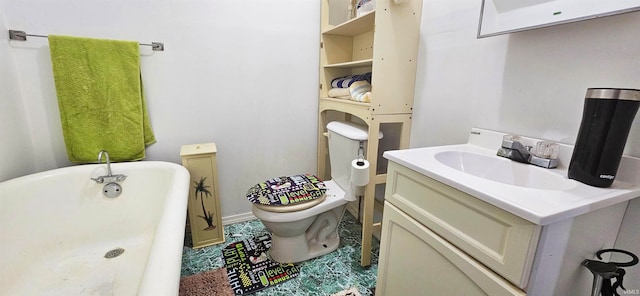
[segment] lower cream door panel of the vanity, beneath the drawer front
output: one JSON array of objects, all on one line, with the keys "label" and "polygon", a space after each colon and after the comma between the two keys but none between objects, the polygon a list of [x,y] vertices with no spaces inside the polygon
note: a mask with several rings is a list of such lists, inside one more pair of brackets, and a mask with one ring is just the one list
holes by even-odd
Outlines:
[{"label": "lower cream door panel of the vanity, beneath the drawer front", "polygon": [[526,295],[385,202],[376,295]]}]

